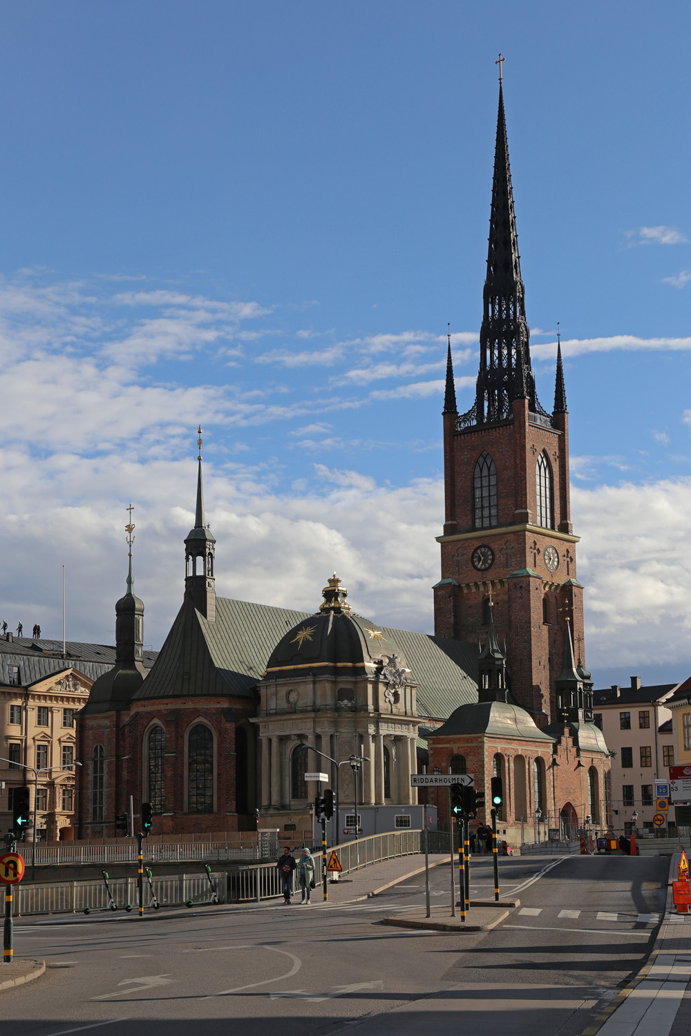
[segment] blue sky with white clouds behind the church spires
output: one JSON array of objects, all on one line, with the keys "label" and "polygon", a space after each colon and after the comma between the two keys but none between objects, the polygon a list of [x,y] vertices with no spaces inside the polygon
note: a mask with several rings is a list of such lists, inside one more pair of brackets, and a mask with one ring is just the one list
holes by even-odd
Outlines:
[{"label": "blue sky with white clouds behind the church spires", "polygon": [[196,428],[218,588],[431,631],[499,51],[538,392],[560,323],[599,685],[691,671],[688,4],[0,2],[0,618],[161,645]]}]

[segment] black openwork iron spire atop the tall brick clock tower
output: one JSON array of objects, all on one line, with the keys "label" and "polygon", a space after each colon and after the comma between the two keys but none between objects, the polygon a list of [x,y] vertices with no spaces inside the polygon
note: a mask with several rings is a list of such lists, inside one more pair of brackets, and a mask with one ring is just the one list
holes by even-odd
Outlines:
[{"label": "black openwork iron spire atop the tall brick clock tower", "polygon": [[499,85],[487,279],[480,329],[480,372],[476,405],[459,420],[459,427],[510,419],[515,399],[527,399],[529,410],[547,418],[536,398],[530,370],[503,92]]}]

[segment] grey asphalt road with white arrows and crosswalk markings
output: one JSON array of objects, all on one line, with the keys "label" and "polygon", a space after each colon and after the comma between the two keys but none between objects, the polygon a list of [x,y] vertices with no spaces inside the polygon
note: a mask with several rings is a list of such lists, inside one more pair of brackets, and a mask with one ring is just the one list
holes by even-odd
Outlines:
[{"label": "grey asphalt road with white arrows and crosswalk markings", "polygon": [[[379,924],[424,903],[424,875],[361,903],[264,903],[140,921],[133,915],[16,924],[17,956],[42,978],[0,994],[0,1036],[309,1036],[375,1032],[572,1036],[647,956],[665,901],[665,858],[502,859],[502,893],[521,905],[490,932]],[[473,898],[491,898],[474,858]],[[450,902],[449,865],[431,871]],[[318,890],[317,890],[318,895]],[[462,1014],[459,1012],[462,1011]]]}]

